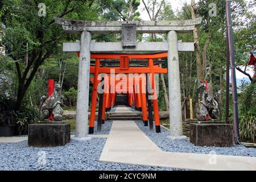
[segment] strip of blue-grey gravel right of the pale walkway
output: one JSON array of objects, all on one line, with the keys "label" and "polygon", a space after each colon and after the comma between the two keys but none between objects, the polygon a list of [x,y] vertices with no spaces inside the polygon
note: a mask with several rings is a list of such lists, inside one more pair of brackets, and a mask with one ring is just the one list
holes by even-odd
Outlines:
[{"label": "strip of blue-grey gravel right of the pale walkway", "polygon": [[189,142],[189,139],[184,141],[174,141],[167,139],[167,135],[170,131],[161,127],[161,133],[155,133],[149,130],[149,127],[145,127],[143,122],[136,122],[139,128],[150,138],[156,145],[166,152],[185,152],[196,154],[215,154],[217,155],[236,155],[236,156],[249,156],[256,157],[256,148],[246,148],[244,146],[234,144],[233,147],[199,147]]}]

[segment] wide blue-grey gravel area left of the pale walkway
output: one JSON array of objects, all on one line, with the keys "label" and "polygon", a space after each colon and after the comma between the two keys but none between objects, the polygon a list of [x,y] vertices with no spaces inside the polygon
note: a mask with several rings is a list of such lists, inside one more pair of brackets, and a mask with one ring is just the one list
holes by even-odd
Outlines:
[{"label": "wide blue-grey gravel area left of the pale walkway", "polygon": [[[4,170],[172,170],[128,164],[99,162],[106,138],[75,142],[64,147],[35,148],[27,142],[0,144],[0,171]],[[44,153],[45,152],[45,153]],[[45,158],[44,158],[45,154]],[[46,159],[46,160],[41,160]],[[44,161],[46,161],[44,165]]]}]

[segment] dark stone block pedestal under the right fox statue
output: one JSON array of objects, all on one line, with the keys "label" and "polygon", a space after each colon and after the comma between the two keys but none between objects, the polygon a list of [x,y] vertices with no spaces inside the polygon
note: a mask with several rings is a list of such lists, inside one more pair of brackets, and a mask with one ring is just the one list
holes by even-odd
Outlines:
[{"label": "dark stone block pedestal under the right fox statue", "polygon": [[196,146],[233,146],[233,125],[217,123],[192,123],[190,142]]}]

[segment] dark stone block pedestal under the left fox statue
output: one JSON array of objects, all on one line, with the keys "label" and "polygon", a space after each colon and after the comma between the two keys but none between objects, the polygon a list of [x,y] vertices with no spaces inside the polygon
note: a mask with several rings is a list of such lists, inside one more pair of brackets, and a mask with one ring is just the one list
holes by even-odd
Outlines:
[{"label": "dark stone block pedestal under the left fox statue", "polygon": [[28,125],[28,146],[57,147],[70,142],[70,124],[39,123]]}]

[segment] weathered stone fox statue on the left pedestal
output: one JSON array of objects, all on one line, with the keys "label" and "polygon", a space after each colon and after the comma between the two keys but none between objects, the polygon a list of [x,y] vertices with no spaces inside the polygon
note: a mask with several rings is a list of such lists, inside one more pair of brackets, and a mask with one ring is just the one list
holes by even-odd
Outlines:
[{"label": "weathered stone fox statue on the left pedestal", "polygon": [[52,113],[54,121],[62,121],[63,109],[60,107],[60,88],[60,84],[55,83],[51,96],[40,98],[40,120],[48,119]]}]

